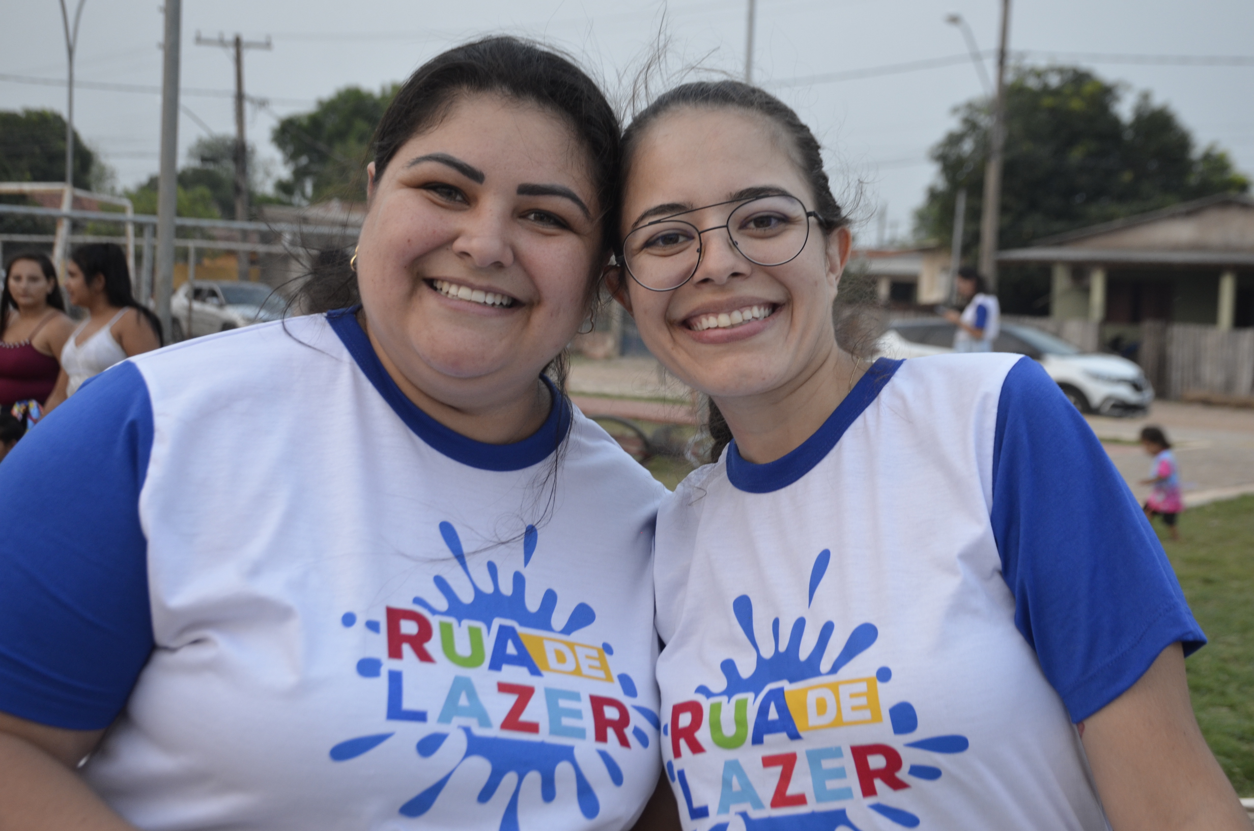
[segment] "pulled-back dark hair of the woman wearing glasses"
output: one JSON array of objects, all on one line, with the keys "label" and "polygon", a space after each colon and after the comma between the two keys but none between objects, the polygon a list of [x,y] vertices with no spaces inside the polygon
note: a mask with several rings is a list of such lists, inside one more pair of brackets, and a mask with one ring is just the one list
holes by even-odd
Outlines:
[{"label": "pulled-back dark hair of the woman wearing glasses", "polygon": [[[641,136],[650,124],[673,109],[742,109],[757,115],[762,115],[779,127],[789,138],[793,151],[793,161],[805,177],[814,196],[811,210],[819,215],[819,227],[825,235],[830,235],[836,228],[849,225],[836,197],[831,193],[831,182],[828,172],[823,167],[823,148],[819,141],[810,132],[810,128],[798,118],[793,108],[781,102],[775,95],[751,87],[739,80],[705,80],[682,84],[663,93],[646,107],[631,126],[623,132],[623,163],[618,185],[619,193],[626,192],[627,177],[631,174],[632,153],[640,143]],[[617,240],[617,237],[616,237]],[[621,245],[614,249],[616,254],[622,254]],[[706,402],[707,417],[705,429],[710,434],[711,446],[707,458],[714,462],[722,454],[722,449],[731,443],[731,429],[727,421],[719,412],[719,407],[712,402]]]}]

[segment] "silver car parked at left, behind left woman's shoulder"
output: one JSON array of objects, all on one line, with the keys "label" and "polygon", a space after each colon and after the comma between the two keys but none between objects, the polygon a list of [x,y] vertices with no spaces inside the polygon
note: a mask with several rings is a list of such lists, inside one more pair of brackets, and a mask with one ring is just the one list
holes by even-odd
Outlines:
[{"label": "silver car parked at left, behind left woman's shoulder", "polygon": [[283,298],[263,282],[184,282],[169,304],[171,341],[278,320],[285,304]]}]

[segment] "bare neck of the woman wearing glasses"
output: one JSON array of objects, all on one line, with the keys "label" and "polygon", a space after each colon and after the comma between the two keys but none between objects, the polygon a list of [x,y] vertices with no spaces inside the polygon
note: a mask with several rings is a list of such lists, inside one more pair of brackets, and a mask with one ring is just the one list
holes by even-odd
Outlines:
[{"label": "bare neck of the woman wearing glasses", "polygon": [[814,436],[864,372],[856,358],[833,341],[830,350],[789,383],[757,395],[716,398],[715,404],[741,457],[762,464],[791,453]]}]

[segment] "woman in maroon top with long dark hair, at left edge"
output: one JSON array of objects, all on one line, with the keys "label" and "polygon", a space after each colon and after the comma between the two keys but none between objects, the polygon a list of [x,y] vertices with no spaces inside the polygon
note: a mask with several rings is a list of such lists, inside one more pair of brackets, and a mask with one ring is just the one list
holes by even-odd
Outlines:
[{"label": "woman in maroon top with long dark hair, at left edge", "polygon": [[10,257],[0,292],[0,412],[23,400],[44,404],[73,329],[53,261],[38,251]]}]

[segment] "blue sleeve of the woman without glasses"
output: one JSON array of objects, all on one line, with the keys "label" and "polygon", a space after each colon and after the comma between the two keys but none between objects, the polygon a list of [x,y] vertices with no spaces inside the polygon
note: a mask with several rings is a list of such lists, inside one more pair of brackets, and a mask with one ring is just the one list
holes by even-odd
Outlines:
[{"label": "blue sleeve of the woman without glasses", "polygon": [[124,363],[84,384],[0,463],[0,710],[108,727],[153,648],[139,488],[148,388]]}]

